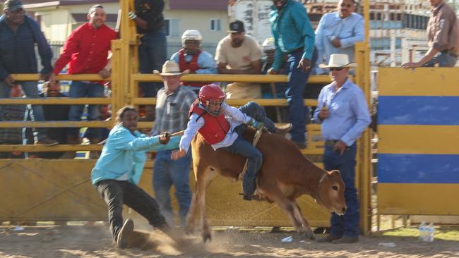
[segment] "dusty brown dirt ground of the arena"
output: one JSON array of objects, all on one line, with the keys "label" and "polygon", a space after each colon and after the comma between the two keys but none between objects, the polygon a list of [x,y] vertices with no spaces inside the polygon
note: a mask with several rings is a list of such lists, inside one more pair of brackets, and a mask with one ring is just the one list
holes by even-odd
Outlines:
[{"label": "dusty brown dirt ground of the arena", "polygon": [[357,244],[335,245],[281,242],[291,232],[217,230],[212,242],[204,245],[198,235],[174,242],[156,231],[136,231],[131,248],[119,250],[107,226],[13,229],[0,228],[0,257],[459,257],[457,241],[419,242],[413,237],[369,236]]}]

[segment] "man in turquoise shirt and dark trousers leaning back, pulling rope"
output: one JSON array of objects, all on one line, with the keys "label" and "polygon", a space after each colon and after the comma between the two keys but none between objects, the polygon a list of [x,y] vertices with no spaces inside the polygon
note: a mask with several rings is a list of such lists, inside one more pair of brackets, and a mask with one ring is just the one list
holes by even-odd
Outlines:
[{"label": "man in turquoise shirt and dark trousers leaning back, pulling rope", "polygon": [[167,135],[148,137],[139,133],[138,113],[133,106],[120,109],[117,122],[93,168],[91,182],[108,205],[114,241],[118,247],[126,248],[134,224],[131,219],[126,219],[123,224],[123,204],[144,216],[151,226],[169,233],[169,225],[156,200],[137,184],[145,164],[145,152],[177,149],[180,137],[169,140]]}]

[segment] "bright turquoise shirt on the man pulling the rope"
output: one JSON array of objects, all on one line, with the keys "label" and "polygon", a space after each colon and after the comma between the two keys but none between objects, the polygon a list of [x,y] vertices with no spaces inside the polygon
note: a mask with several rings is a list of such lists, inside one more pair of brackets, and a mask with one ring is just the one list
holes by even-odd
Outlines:
[{"label": "bright turquoise shirt on the man pulling the rope", "polygon": [[91,173],[93,185],[108,179],[129,180],[138,184],[147,159],[145,152],[160,152],[179,146],[180,137],[172,137],[167,145],[162,145],[159,138],[148,137],[138,131],[132,134],[123,125],[115,125]]}]

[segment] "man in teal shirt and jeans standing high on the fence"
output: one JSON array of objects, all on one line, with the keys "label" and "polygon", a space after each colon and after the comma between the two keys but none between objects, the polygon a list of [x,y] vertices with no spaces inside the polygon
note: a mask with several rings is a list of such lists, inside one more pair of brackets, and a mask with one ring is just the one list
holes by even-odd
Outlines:
[{"label": "man in teal shirt and jeans standing high on the fence", "polygon": [[306,106],[303,93],[309,78],[314,52],[314,30],[304,6],[293,0],[273,0],[270,23],[275,40],[273,68],[268,73],[278,74],[287,56],[289,82],[285,97],[289,104],[292,141],[299,148],[306,147]]}]

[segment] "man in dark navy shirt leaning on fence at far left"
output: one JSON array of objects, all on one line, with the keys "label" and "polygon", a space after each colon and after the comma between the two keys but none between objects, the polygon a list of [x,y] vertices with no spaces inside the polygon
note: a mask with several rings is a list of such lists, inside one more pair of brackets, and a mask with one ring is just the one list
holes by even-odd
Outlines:
[{"label": "man in dark navy shirt leaning on fence at far left", "polygon": [[[40,26],[26,16],[19,0],[6,0],[4,15],[0,17],[0,98],[10,97],[11,88],[20,85],[29,98],[38,98],[36,81],[16,81],[11,73],[38,73],[35,44],[42,61],[40,80],[47,80],[52,71],[52,52]],[[35,121],[44,121],[42,106],[33,105]],[[0,117],[4,106],[0,105]],[[37,144],[56,145],[46,130],[37,129]]]}]

